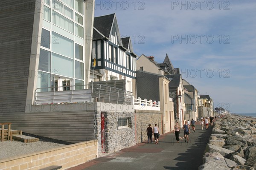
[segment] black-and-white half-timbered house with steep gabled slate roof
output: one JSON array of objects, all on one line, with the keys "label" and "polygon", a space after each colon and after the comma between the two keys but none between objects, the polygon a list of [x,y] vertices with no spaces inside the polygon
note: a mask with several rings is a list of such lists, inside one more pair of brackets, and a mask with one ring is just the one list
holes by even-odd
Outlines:
[{"label": "black-and-white half-timbered house with steep gabled slate roof", "polygon": [[130,37],[120,34],[116,14],[94,17],[90,81],[125,80],[123,90],[136,96],[136,57]]}]

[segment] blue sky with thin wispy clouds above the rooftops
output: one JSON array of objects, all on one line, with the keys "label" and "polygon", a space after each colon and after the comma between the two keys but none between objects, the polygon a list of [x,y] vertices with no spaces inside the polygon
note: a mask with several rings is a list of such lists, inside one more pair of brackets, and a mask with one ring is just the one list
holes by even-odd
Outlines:
[{"label": "blue sky with thin wispy clouds above the rooftops", "polygon": [[113,13],[137,56],[168,54],[215,108],[256,113],[255,0],[96,0],[95,17]]}]

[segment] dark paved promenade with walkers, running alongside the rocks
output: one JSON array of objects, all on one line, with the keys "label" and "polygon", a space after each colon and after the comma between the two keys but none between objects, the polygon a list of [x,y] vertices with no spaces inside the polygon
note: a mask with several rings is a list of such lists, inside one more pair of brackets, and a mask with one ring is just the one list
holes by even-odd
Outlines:
[{"label": "dark paved promenade with walkers, running alongside the rocks", "polygon": [[[180,136],[184,136],[183,132]],[[212,127],[201,130],[196,125],[196,132],[189,135],[189,143],[184,139],[176,143],[175,134],[169,132],[160,136],[159,144],[143,142],[70,170],[197,170],[203,164],[211,132]]]}]

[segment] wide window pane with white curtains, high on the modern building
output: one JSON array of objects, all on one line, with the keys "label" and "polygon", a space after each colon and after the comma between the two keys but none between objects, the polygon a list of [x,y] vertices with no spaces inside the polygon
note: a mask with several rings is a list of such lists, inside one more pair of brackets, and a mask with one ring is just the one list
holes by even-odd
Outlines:
[{"label": "wide window pane with white curtains, high on the modern building", "polygon": [[67,31],[74,33],[74,22],[52,11],[52,23]]}]

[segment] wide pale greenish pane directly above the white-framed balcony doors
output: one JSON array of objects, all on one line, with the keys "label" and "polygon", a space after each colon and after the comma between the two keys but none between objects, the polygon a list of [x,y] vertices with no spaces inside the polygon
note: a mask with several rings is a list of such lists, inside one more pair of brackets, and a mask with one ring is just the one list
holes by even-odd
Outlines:
[{"label": "wide pale greenish pane directly above the white-framed balcony doors", "polygon": [[74,60],[52,53],[52,70],[62,76],[74,77]]}]

